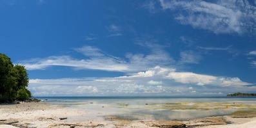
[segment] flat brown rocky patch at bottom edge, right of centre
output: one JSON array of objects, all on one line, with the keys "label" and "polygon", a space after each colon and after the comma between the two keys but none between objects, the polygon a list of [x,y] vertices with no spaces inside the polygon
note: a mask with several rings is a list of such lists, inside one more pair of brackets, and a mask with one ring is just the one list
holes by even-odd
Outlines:
[{"label": "flat brown rocky patch at bottom edge, right of centre", "polygon": [[149,127],[161,127],[161,128],[183,128],[186,127],[186,124],[179,121],[172,120],[154,120],[144,122]]}]

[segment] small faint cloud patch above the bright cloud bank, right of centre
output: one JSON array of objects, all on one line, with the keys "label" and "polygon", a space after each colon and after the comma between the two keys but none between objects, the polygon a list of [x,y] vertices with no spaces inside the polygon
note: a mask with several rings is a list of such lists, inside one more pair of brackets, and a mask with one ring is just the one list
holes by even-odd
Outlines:
[{"label": "small faint cloud patch above the bright cloud bank, right of centre", "polygon": [[192,51],[182,51],[180,53],[181,63],[199,63],[201,56]]}]

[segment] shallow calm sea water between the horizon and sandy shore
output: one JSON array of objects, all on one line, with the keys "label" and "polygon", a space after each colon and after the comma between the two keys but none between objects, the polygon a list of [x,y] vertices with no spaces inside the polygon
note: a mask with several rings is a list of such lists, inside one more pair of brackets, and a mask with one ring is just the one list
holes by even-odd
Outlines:
[{"label": "shallow calm sea water between the horizon and sandy shore", "polygon": [[129,120],[190,120],[255,110],[256,97],[35,97],[50,104]]}]

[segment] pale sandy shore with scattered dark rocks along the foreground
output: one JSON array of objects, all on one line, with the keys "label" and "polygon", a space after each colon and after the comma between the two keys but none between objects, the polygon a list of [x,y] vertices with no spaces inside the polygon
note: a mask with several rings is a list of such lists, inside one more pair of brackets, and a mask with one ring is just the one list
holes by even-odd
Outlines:
[{"label": "pale sandy shore with scattered dark rocks along the foreground", "polygon": [[[107,111],[107,109],[106,109]],[[239,113],[240,114],[240,113]],[[255,113],[253,113],[253,116]],[[215,116],[188,121],[129,120],[102,112],[43,102],[0,105],[0,127],[204,127],[253,128],[253,116]],[[246,115],[246,113],[244,113]]]}]

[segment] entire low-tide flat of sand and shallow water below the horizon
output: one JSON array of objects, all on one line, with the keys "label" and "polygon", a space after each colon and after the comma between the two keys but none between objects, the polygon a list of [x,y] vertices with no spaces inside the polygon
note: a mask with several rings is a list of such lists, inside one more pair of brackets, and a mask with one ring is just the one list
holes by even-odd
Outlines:
[{"label": "entire low-tide flat of sand and shallow water below the horizon", "polygon": [[60,99],[0,105],[0,127],[255,127],[255,99]]}]

